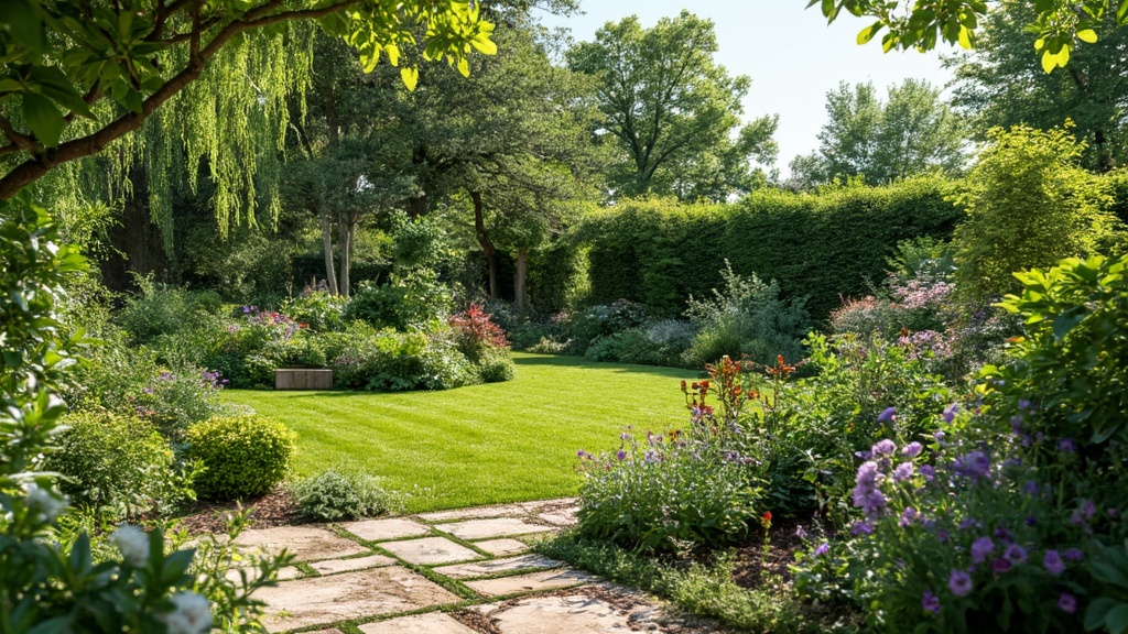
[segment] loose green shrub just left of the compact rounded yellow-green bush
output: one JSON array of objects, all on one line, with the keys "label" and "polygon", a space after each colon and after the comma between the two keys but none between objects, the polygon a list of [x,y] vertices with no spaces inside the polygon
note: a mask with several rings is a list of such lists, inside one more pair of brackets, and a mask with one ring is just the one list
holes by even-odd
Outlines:
[{"label": "loose green shrub just left of the compact rounded yellow-green bush", "polygon": [[167,513],[192,493],[173,451],[147,421],[111,412],[65,416],[56,451],[44,468],[60,473],[60,490],[109,519]]}]

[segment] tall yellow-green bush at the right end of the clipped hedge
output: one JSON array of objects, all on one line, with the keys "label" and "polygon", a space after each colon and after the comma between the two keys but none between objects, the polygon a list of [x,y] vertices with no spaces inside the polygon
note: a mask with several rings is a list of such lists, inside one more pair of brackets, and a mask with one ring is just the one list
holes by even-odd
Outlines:
[{"label": "tall yellow-green bush at the right end of the clipped hedge", "polygon": [[1092,253],[1116,219],[1104,183],[1076,165],[1067,130],[994,130],[957,201],[967,219],[952,249],[957,287],[988,300],[1014,290],[1012,273]]}]

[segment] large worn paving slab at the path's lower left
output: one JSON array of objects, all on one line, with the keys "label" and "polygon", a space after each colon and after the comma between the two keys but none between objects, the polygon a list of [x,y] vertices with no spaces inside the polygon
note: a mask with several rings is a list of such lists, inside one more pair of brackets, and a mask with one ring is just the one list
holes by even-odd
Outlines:
[{"label": "large worn paving slab at the path's lower left", "polygon": [[453,604],[459,597],[402,566],[310,576],[261,588],[266,629],[283,632],[337,620]]}]

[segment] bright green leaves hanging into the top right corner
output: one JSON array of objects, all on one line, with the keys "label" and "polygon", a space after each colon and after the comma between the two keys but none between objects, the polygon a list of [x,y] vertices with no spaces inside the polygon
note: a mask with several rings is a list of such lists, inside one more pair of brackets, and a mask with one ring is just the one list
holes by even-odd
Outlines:
[{"label": "bright green leaves hanging into the top right corner", "polygon": [[[1023,25],[1023,30],[1034,34],[1030,41],[1041,53],[1046,72],[1064,68],[1078,42],[1098,42],[1098,29],[1113,14],[1118,27],[1128,26],[1128,2],[1123,0],[1022,0],[1022,3],[1033,7],[1033,19]],[[887,52],[893,47],[926,51],[940,41],[972,49],[979,19],[988,10],[986,0],[911,5],[887,0],[810,0],[807,3],[814,5],[819,5],[828,23],[835,21],[844,9],[854,16],[876,18],[857,34],[857,43],[865,44],[884,30],[881,46]]]}]

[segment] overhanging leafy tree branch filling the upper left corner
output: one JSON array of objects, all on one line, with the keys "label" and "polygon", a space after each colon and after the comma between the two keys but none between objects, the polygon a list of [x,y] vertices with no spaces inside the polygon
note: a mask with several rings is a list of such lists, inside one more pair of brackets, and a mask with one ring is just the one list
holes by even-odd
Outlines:
[{"label": "overhanging leafy tree branch filling the upper left corner", "polygon": [[[378,0],[10,0],[0,7],[0,200],[139,129],[241,36],[318,19],[371,69],[426,32],[428,59],[469,72],[493,25],[470,3]],[[405,65],[414,86],[418,70]]]}]

